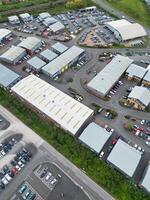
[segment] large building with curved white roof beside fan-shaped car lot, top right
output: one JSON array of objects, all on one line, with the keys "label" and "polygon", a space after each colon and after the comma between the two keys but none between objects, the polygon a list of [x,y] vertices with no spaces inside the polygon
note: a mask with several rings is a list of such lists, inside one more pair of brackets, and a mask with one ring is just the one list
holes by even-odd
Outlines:
[{"label": "large building with curved white roof beside fan-shaped car lot, top right", "polygon": [[107,22],[106,26],[120,42],[141,38],[147,35],[140,24],[131,23],[126,19]]}]

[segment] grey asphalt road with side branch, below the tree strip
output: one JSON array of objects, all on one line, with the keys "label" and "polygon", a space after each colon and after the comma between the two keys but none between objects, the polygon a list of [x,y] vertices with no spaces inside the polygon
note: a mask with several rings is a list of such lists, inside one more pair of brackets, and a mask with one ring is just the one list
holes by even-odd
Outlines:
[{"label": "grey asphalt road with side branch, below the tree strip", "polygon": [[[48,143],[43,141],[38,135],[36,135],[35,132],[24,125],[19,119],[17,119],[2,106],[0,106],[0,113],[11,123],[7,131],[1,131],[2,137],[9,135],[10,133],[12,134],[18,132],[19,130],[23,130],[24,135],[22,141],[26,143],[33,141],[38,148],[38,153],[34,156],[34,159],[30,162],[29,165],[26,166],[22,173],[16,177],[14,182],[8,185],[8,190],[5,190],[2,193],[3,197],[8,199],[10,195],[15,191],[15,188],[20,185],[26,175],[32,172],[32,169],[35,166],[37,166],[39,163],[50,161],[54,162],[72,181],[74,181],[88,195],[90,200],[114,199],[105,190],[103,190],[103,188],[98,186],[86,174],[84,174],[82,170],[73,165],[63,155],[57,152]],[[0,199],[3,197],[0,196]]]}]

